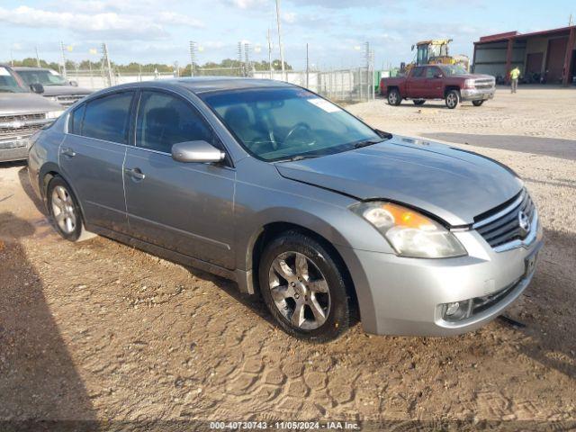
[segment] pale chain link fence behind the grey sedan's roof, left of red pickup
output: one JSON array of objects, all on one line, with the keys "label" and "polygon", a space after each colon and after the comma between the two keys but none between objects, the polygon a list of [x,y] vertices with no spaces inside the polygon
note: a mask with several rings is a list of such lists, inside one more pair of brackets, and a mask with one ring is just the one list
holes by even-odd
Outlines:
[{"label": "pale chain link fence behind the grey sedan's roof, left of red pickup", "polygon": [[[189,70],[189,69],[188,69]],[[121,73],[117,70],[108,73],[102,70],[68,70],[67,78],[76,81],[79,86],[101,89],[111,85],[152,81],[173,78],[177,73],[159,73],[156,70],[139,70]],[[338,103],[365,102],[374,98],[378,83],[374,71],[368,67],[355,67],[337,70],[287,70],[247,71],[245,67],[194,67],[193,76],[252,76],[255,78],[275,79],[310,89]]]}]

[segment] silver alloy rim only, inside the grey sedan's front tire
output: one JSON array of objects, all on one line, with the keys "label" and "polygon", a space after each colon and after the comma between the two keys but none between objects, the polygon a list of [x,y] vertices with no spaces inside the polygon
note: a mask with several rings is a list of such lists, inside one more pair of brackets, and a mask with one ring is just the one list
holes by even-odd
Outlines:
[{"label": "silver alloy rim only, inside the grey sedan's front tire", "polygon": [[299,252],[280,254],[272,262],[268,281],[276,308],[294,328],[313,330],[326,322],[329,285],[309,257]]}]

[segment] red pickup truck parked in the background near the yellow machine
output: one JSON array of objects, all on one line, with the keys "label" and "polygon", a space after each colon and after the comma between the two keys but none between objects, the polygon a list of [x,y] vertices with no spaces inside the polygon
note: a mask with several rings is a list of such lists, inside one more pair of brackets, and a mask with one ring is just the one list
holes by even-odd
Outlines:
[{"label": "red pickup truck parked in the background near the yellow machine", "polygon": [[380,81],[380,94],[386,96],[391,105],[400,105],[402,99],[411,99],[416,105],[427,99],[444,99],[450,109],[464,101],[480,106],[494,97],[495,90],[494,76],[469,74],[458,65],[416,66],[408,76]]}]

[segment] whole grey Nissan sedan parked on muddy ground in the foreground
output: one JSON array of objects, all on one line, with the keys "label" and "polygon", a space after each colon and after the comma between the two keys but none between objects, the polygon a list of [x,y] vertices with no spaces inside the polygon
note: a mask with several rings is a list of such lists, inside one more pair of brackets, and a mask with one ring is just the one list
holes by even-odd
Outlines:
[{"label": "whole grey Nissan sedan parked on muddy ground in the foreground", "polygon": [[31,184],[55,229],[196,266],[324,341],[448,336],[534,275],[536,207],[508,167],[374,130],[302,87],[188,78],[105,89],[36,137]]}]

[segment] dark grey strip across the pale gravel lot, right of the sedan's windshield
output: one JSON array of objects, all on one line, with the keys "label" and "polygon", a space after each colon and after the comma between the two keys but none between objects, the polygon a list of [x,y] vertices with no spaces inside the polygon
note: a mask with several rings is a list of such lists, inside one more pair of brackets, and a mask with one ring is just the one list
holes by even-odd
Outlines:
[{"label": "dark grey strip across the pale gravel lot, right of the sedan's windshield", "polygon": [[576,140],[526,137],[520,135],[475,135],[468,133],[425,133],[423,137],[467,144],[470,146],[499,148],[501,150],[533,153],[576,160]]}]

